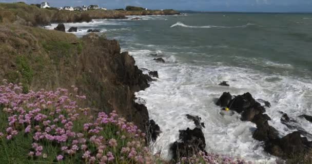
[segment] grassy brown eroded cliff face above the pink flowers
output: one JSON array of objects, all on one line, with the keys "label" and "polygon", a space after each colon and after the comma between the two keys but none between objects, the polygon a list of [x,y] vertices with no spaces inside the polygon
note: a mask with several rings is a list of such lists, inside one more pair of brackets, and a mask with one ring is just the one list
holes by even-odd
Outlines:
[{"label": "grassy brown eroded cliff face above the pink flowers", "polygon": [[73,34],[28,26],[0,26],[0,79],[24,84],[24,90],[79,88],[83,106],[119,114],[145,130],[148,112],[134,103],[134,92],[147,88],[148,75],[135,66],[116,40],[91,33]]}]

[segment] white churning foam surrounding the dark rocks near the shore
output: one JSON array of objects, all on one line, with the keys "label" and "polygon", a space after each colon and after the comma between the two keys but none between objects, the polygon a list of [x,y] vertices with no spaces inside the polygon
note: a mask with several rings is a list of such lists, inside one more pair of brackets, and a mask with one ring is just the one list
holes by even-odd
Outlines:
[{"label": "white churning foam surrounding the dark rocks near the shore", "polygon": [[[279,75],[268,75],[259,71],[220,66],[190,66],[179,63],[174,55],[165,56],[169,63],[155,63],[148,57],[150,50],[131,51],[137,65],[149,70],[157,70],[160,79],[150,88],[136,93],[146,101],[151,119],[161,127],[161,136],[154,144],[154,152],[161,151],[170,158],[169,144],[179,137],[179,130],[194,128],[193,122],[185,115],[202,117],[207,151],[240,156],[258,162],[274,162],[275,157],[264,152],[261,142],[252,138],[255,124],[243,122],[239,115],[223,116],[214,99],[223,92],[233,95],[250,92],[254,98],[269,100],[272,107],[267,114],[272,118],[269,124],[285,136],[295,130],[281,124],[279,111],[298,120],[300,126],[312,133],[312,125],[297,116],[309,113],[312,108],[312,85],[307,81]],[[174,58],[172,60],[172,58]],[[173,62],[174,61],[174,62]],[[230,81],[231,87],[218,86],[220,81]],[[312,138],[309,138],[312,139]]]}]

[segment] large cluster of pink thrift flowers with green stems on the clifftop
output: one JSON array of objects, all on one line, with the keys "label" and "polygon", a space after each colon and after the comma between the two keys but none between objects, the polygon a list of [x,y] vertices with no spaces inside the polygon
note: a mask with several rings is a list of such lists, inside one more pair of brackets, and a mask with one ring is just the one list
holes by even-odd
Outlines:
[{"label": "large cluster of pink thrift flowers with green stems on the clifftop", "polygon": [[[18,135],[31,137],[30,160],[152,163],[145,134],[115,111],[94,117],[89,108],[78,105],[86,97],[73,95],[67,89],[23,94],[21,84],[3,82],[0,114],[7,116],[8,127],[0,129],[0,142],[14,140]],[[77,93],[75,86],[72,89]]]}]

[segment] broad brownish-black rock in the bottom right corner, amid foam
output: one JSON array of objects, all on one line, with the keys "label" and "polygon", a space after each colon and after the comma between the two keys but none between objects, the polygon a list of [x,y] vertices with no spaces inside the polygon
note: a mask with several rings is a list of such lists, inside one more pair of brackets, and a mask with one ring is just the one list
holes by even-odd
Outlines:
[{"label": "broad brownish-black rock in the bottom right corner, amid foam", "polygon": [[306,155],[312,149],[312,141],[301,137],[300,132],[293,132],[281,139],[274,139],[265,143],[265,151],[284,158],[291,159]]}]

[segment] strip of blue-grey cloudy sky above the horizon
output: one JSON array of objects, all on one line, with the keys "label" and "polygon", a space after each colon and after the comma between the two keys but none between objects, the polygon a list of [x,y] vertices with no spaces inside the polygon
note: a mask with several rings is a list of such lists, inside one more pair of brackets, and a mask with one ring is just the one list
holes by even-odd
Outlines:
[{"label": "strip of blue-grey cloudy sky above the horizon", "polygon": [[[23,1],[23,0],[19,0]],[[0,2],[19,2],[0,0]],[[43,0],[24,0],[38,4]],[[125,8],[128,5],[148,9],[175,9],[194,11],[233,12],[312,12],[312,0],[44,0],[53,7],[99,5],[108,9]]]}]

